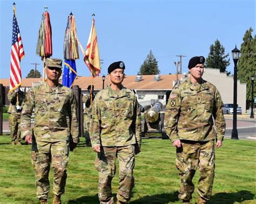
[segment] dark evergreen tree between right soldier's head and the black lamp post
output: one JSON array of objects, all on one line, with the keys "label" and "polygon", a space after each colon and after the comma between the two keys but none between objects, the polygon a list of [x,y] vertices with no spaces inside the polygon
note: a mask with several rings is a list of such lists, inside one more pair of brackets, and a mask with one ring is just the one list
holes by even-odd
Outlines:
[{"label": "dark evergreen tree between right soldier's head and the black lamp post", "polygon": [[229,54],[225,54],[225,48],[220,44],[220,41],[217,39],[210,46],[210,53],[206,58],[205,65],[208,68],[220,69],[220,72],[226,72],[226,68],[230,65]]}]

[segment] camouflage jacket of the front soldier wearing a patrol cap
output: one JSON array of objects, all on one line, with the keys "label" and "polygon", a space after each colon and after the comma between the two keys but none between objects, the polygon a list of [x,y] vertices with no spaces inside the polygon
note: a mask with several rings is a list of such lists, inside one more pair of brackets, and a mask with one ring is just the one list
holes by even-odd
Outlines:
[{"label": "camouflage jacket of the front soldier wearing a patrol cap", "polygon": [[[52,90],[48,83],[33,87],[26,94],[21,115],[22,138],[32,135],[30,118],[35,108],[33,135],[37,141],[58,142],[70,140],[78,142],[77,100],[68,87],[58,84]],[[70,132],[67,123],[70,121]]]}]

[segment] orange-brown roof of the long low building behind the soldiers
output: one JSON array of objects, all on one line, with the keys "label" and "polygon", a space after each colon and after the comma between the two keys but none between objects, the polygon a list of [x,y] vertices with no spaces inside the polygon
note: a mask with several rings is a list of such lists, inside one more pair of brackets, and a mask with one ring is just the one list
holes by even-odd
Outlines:
[{"label": "orange-brown roof of the long low building behind the soldiers", "polygon": [[[170,90],[173,87],[173,81],[176,80],[176,74],[160,75],[159,81],[154,81],[155,75],[142,75],[142,80],[136,82],[136,75],[126,75],[123,81],[123,86],[129,89],[136,90]],[[181,79],[181,74],[178,75],[178,79]],[[22,87],[31,87],[33,83],[39,83],[42,78],[24,78],[22,79]],[[0,79],[0,83],[3,86],[9,86],[9,79]],[[75,85],[78,85],[82,90],[87,89],[91,84],[91,76],[78,76]],[[95,90],[102,89],[103,81],[101,76],[93,78]],[[110,85],[109,76],[106,76],[105,87]]]}]

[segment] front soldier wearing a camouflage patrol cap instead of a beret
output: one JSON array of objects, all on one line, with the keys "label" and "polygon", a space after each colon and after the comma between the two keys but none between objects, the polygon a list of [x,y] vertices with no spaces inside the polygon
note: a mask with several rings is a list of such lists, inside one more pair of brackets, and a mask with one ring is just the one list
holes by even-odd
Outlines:
[{"label": "front soldier wearing a camouflage patrol cap instead of a beret", "polygon": [[[23,102],[22,138],[26,143],[32,144],[31,159],[36,175],[37,198],[41,203],[47,203],[52,163],[53,203],[61,203],[60,196],[65,191],[69,150],[73,151],[79,142],[77,101],[70,88],[58,83],[62,73],[62,60],[48,58],[45,64],[47,81],[31,88]],[[30,118],[33,108],[35,126],[32,135]]]}]

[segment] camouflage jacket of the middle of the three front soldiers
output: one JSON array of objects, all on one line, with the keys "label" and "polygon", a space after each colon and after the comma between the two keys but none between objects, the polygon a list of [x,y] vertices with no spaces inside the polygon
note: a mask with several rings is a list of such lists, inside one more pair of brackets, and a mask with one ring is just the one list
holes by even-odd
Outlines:
[{"label": "camouflage jacket of the middle of the three front soldiers", "polygon": [[122,87],[118,97],[110,87],[95,96],[90,121],[92,147],[127,146],[142,143],[138,101],[130,89]]}]

